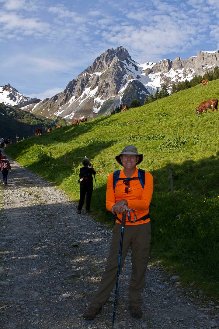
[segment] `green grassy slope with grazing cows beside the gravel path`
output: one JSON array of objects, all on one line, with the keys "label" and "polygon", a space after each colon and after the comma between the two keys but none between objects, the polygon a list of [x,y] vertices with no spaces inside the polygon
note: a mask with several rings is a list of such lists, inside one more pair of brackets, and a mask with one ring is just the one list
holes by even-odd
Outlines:
[{"label": "green grassy slope with grazing cows beside the gravel path", "polygon": [[[85,155],[92,159],[101,206],[96,191],[92,205],[99,217],[107,220],[111,217],[104,205],[106,180],[113,171],[114,156],[125,145],[134,144],[144,154],[141,168],[154,177],[154,253],[174,265],[184,280],[196,281],[202,289],[219,295],[219,113],[209,110],[208,114],[195,115],[200,102],[219,98],[218,90],[219,80],[211,81],[208,88],[199,85],[137,109],[66,126],[11,145],[6,152],[76,199],[78,161]],[[173,139],[179,136],[186,139],[186,145],[175,150]],[[170,149],[165,149],[162,144],[168,139]],[[42,152],[50,152],[50,157],[44,156],[46,167],[40,161]],[[173,172],[173,199],[168,169]]]}]

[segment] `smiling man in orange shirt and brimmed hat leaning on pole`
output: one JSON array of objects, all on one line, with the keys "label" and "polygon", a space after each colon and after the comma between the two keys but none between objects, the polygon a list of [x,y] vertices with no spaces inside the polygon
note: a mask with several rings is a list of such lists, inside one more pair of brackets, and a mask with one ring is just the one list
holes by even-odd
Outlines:
[{"label": "smiling man in orange shirt and brimmed hat leaning on pole", "polygon": [[106,269],[100,281],[99,289],[91,299],[91,306],[84,313],[85,319],[93,320],[102,310],[102,305],[109,298],[117,279],[117,266],[120,248],[121,219],[129,209],[131,221],[126,218],[124,237],[122,243],[121,268],[129,246],[132,250],[132,273],[129,283],[129,308],[131,316],[142,316],[141,292],[144,287],[146,267],[150,250],[151,227],[149,206],[153,194],[153,177],[149,172],[144,173],[144,185],[136,165],[143,160],[143,154],[138,153],[133,145],[127,145],[116,156],[117,162],[123,166],[119,173],[119,179],[115,182],[114,174],[110,174],[107,180],[106,208],[117,215],[113,228],[113,237],[110,244],[110,252],[106,262]]}]

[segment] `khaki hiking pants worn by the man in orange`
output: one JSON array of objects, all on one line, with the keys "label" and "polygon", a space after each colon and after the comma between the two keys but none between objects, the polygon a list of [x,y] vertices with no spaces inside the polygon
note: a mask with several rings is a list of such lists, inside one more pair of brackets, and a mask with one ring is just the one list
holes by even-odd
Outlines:
[{"label": "khaki hiking pants worn by the man in orange", "polygon": [[[91,305],[101,307],[109,298],[116,279],[120,249],[121,224],[115,223],[110,244],[110,252],[106,261],[106,269],[99,284],[99,289],[91,298]],[[124,228],[121,267],[124,265],[129,246],[132,249],[132,273],[129,283],[129,304],[141,306],[141,292],[144,288],[145,273],[151,241],[150,222],[139,225],[126,225]],[[120,290],[121,293],[121,290]],[[125,293],[125,291],[123,291]],[[121,293],[122,294],[122,293]]]}]

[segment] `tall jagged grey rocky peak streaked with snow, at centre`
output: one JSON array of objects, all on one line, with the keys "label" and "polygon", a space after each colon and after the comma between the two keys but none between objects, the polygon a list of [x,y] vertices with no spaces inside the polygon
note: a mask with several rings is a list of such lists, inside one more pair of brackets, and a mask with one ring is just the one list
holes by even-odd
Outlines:
[{"label": "tall jagged grey rocky peak streaked with snow, at centre", "polygon": [[108,49],[70,81],[63,92],[36,106],[34,113],[66,118],[110,113],[121,103],[130,104],[133,98],[143,103],[152,90],[143,82],[140,64],[132,60],[126,49]]}]

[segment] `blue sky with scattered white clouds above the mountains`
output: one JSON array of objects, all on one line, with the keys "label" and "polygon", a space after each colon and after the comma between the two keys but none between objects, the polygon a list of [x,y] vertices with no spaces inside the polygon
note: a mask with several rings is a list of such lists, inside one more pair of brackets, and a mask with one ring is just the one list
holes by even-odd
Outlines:
[{"label": "blue sky with scattered white clouds above the mountains", "polygon": [[218,0],[0,0],[0,86],[44,99],[109,48],[139,63],[219,48]]}]

